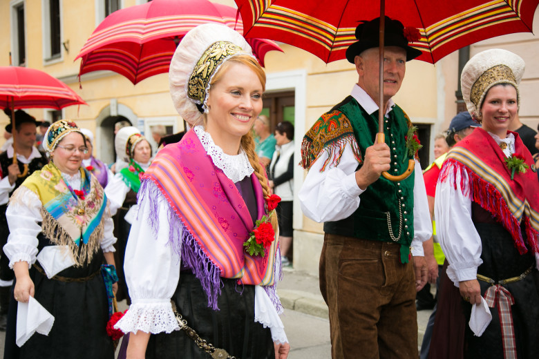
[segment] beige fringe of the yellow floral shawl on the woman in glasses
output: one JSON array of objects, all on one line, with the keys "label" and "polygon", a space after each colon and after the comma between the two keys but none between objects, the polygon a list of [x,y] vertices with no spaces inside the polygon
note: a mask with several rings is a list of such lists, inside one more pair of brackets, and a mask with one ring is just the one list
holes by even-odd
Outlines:
[{"label": "beige fringe of the yellow floral shawl on the woman in glasses", "polygon": [[[108,213],[108,204],[106,212]],[[102,216],[100,224],[95,227],[90,235],[88,243],[84,244],[81,239],[80,246],[77,246],[66,230],[64,230],[59,222],[55,220],[55,217],[50,215],[44,207],[41,207],[41,217],[43,218],[43,222],[41,223],[41,233],[43,233],[51,243],[57,246],[67,245],[69,251],[73,254],[75,267],[80,267],[91,262],[93,255],[100,249],[101,240],[105,233],[105,215]]]}]

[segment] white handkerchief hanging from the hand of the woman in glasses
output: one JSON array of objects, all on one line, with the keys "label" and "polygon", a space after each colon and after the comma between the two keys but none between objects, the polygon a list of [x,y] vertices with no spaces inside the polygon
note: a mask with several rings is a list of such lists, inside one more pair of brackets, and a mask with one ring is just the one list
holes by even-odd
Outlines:
[{"label": "white handkerchief hanging from the hand of the woman in glasses", "polygon": [[30,339],[36,331],[48,336],[54,322],[55,317],[33,297],[30,297],[27,303],[19,302],[17,306],[17,338],[15,342],[19,347],[22,347],[26,340]]}]

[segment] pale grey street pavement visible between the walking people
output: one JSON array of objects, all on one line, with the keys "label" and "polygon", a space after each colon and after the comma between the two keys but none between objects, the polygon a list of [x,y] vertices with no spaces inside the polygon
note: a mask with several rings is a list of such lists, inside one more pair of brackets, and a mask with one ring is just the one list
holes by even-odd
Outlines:
[{"label": "pale grey street pavement visible between the walking people", "polygon": [[[328,359],[331,357],[330,322],[328,307],[320,293],[318,278],[292,268],[284,269],[283,281],[277,293],[285,311],[281,319],[290,342],[290,359]],[[118,303],[120,310],[127,308]],[[418,347],[431,311],[417,313]],[[39,335],[39,334],[38,334]],[[0,358],[3,358],[5,333],[0,331]]]}]

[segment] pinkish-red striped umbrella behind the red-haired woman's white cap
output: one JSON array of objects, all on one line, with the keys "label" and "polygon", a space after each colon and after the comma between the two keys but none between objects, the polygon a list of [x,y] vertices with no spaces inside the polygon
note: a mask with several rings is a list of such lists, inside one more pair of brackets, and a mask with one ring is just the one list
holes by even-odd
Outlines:
[{"label": "pinkish-red striped umbrella behind the red-haired woman's white cap", "polygon": [[[117,10],[97,26],[75,58],[82,59],[79,76],[111,70],[137,84],[169,72],[176,46],[192,28],[222,23],[241,33],[241,19],[237,22],[236,9],[207,0],[153,0]],[[262,66],[268,51],[282,51],[274,41],[247,41]]]}]

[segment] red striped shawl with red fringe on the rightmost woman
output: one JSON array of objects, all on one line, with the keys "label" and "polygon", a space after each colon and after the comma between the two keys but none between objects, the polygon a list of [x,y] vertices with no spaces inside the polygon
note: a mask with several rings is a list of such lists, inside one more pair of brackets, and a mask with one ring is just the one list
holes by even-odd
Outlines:
[{"label": "red striped shawl with red fringe on the rightmost woman", "polygon": [[[515,135],[515,154],[522,156],[530,167],[531,154],[522,140]],[[451,181],[455,186],[454,167],[468,175],[468,182],[460,179],[462,193],[489,211],[495,220],[511,233],[520,254],[527,252],[520,224],[524,224],[527,244],[533,253],[539,253],[539,182],[534,171],[515,173],[505,164],[505,155],[495,140],[482,128],[475,128],[471,135],[449,151],[439,174],[438,182]],[[535,166],[533,166],[535,168]]]}]

